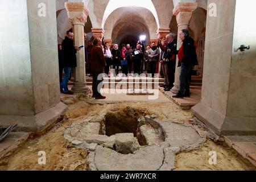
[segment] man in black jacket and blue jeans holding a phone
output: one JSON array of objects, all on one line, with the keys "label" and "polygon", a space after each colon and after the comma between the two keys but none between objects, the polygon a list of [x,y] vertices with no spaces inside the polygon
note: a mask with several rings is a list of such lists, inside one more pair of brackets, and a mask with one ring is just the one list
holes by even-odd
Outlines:
[{"label": "man in black jacket and blue jeans holding a phone", "polygon": [[74,46],[73,37],[73,32],[70,30],[67,31],[67,36],[65,36],[65,39],[61,45],[63,52],[64,78],[60,83],[60,92],[64,94],[73,94],[73,92],[68,90],[68,80],[73,71],[73,68],[77,66],[76,52],[80,50],[80,48]]}]

